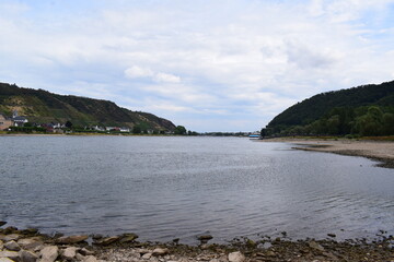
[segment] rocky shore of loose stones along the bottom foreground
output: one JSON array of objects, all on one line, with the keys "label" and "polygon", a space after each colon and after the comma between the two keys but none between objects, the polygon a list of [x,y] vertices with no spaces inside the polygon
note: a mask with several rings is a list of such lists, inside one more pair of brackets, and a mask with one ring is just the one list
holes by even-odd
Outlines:
[{"label": "rocky shore of loose stones along the bottom foreground", "polygon": [[[0,225],[5,223],[0,222]],[[199,246],[174,239],[167,243],[139,242],[138,236],[48,236],[37,229],[0,228],[0,262],[394,262],[394,237],[382,233],[373,241],[338,242],[328,234],[325,240],[290,240],[266,236],[259,241],[234,239],[228,245],[208,243],[212,236],[200,236]]]}]

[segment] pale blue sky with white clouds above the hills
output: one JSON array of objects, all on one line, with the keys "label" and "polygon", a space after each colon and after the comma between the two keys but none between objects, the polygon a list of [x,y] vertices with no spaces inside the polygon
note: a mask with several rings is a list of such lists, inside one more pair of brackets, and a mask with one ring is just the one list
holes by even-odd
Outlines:
[{"label": "pale blue sky with white clouds above the hills", "polygon": [[0,0],[0,82],[256,131],[394,79],[394,0]]}]

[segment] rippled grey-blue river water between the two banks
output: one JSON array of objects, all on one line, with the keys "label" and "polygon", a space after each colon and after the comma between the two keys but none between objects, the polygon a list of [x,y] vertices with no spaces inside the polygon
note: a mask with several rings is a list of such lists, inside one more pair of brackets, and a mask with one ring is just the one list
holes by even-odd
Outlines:
[{"label": "rippled grey-blue river water between the two banks", "polygon": [[394,234],[394,170],[240,138],[0,136],[0,219],[195,243]]}]

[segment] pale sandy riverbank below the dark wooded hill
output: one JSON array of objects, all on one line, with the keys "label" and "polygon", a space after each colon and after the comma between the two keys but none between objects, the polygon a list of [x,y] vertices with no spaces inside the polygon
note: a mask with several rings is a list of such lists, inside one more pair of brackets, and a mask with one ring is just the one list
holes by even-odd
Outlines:
[{"label": "pale sandy riverbank below the dark wooded hill", "polygon": [[300,138],[276,138],[263,142],[293,143],[293,148],[325,152],[339,155],[362,156],[379,162],[378,166],[394,168],[394,142],[363,140],[318,140]]}]

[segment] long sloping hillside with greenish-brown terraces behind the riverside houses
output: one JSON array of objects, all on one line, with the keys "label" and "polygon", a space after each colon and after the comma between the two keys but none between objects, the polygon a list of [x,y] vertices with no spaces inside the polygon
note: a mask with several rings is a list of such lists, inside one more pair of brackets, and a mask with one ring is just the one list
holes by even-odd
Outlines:
[{"label": "long sloping hillside with greenish-brown terraces behind the riverside houses", "polygon": [[30,122],[65,123],[74,126],[115,126],[157,131],[173,131],[175,126],[152,114],[131,111],[109,100],[65,96],[43,90],[23,88],[0,83],[0,114],[11,116],[13,110]]}]

